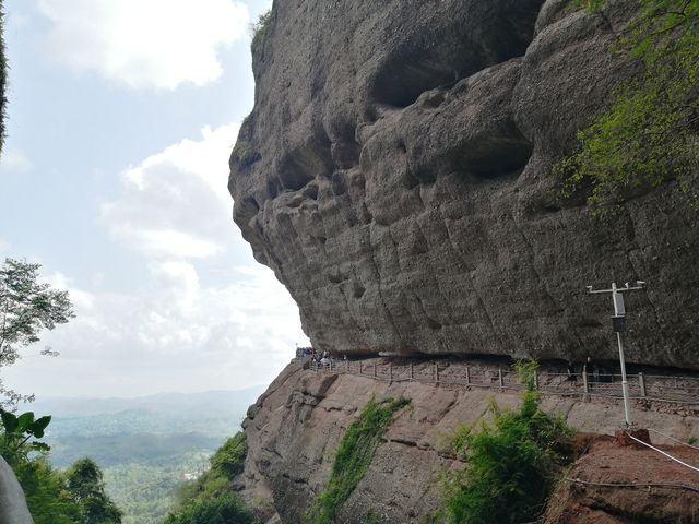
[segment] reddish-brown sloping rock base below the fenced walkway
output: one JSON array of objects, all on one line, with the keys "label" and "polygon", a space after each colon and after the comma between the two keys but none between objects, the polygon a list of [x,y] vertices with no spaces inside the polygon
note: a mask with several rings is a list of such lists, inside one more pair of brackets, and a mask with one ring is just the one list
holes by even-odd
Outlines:
[{"label": "reddish-brown sloping rock base below the fenced walkway", "polygon": [[[420,366],[429,368],[430,362],[416,364],[416,373]],[[362,523],[367,514],[379,516],[383,524],[442,522],[433,521],[443,507],[442,476],[449,469],[465,467],[450,455],[448,437],[458,425],[476,424],[487,416],[494,398],[502,407],[517,406],[517,393],[412,381],[378,382],[370,377],[316,373],[304,369],[299,361],[292,362],[250,407],[244,422],[248,456],[241,486],[246,500],[252,507],[268,505],[264,516],[277,513],[280,520],[270,522],[305,522],[304,514],[324,489],[337,444],[357,412],[371,397],[380,401],[389,396],[408,398],[411,404],[384,434],[368,471],[337,509],[334,522]],[[581,431],[600,433],[613,433],[624,413],[618,400],[604,398],[582,402],[547,395],[542,407],[560,414]],[[699,406],[692,410],[641,402],[632,406],[633,419],[640,427],[657,428],[683,440],[699,436],[696,408]],[[655,433],[653,438],[657,438]],[[696,464],[697,452],[685,451],[692,452],[686,460]],[[652,467],[643,469],[644,464]],[[662,484],[673,469],[672,461],[653,456],[653,452],[645,455],[639,450],[629,453],[617,448],[603,450],[596,458],[585,456],[570,476],[583,481]],[[675,469],[671,472],[675,484],[689,483],[699,492],[697,479],[688,478],[690,471],[682,466]],[[558,514],[549,515],[548,524],[697,522],[692,520],[699,503],[697,492],[655,488],[652,493],[651,488],[611,491],[561,484],[567,488],[561,486],[557,493],[560,503],[553,504],[553,509]],[[648,510],[650,507],[652,511]],[[641,521],[638,515],[644,511],[649,520]],[[584,520],[580,515],[592,516]],[[656,520],[650,520],[651,515]]]}]

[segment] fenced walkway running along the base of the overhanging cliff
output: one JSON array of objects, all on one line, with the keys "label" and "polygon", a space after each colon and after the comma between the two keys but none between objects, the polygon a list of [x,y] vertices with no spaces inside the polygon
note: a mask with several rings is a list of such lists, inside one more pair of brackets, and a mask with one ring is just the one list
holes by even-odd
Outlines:
[{"label": "fenced walkway running along the base of the overhanging cliff", "polygon": [[[388,359],[331,360],[319,365],[308,360],[305,365],[317,373],[347,373],[388,382],[414,381],[429,384],[453,384],[464,388],[489,388],[498,391],[523,391],[517,372],[509,366],[483,366],[465,362],[427,362],[396,365]],[[571,380],[568,373],[536,373],[537,390],[547,395],[603,396],[623,398],[621,376],[582,372]],[[627,373],[632,400],[666,402],[699,409],[699,378],[661,374]]]}]

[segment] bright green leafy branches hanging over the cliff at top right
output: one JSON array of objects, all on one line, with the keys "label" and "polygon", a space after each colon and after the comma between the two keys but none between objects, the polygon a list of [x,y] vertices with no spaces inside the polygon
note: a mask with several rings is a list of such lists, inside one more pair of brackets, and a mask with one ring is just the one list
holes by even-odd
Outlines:
[{"label": "bright green leafy branches hanging over the cliff at top right", "polygon": [[[579,0],[578,4],[599,11],[607,2]],[[619,85],[612,107],[578,133],[580,151],[557,166],[567,177],[564,193],[591,186],[588,203],[597,212],[670,179],[696,193],[699,0],[640,0],[616,50],[640,59],[645,70]]]}]

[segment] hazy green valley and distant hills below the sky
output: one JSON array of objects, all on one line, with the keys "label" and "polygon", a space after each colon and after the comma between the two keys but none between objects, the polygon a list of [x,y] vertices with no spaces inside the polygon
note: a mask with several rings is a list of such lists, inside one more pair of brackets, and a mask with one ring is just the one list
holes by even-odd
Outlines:
[{"label": "hazy green valley and distant hills below the sky", "polygon": [[125,524],[157,524],[187,476],[240,430],[248,406],[264,391],[158,393],[135,398],[42,398],[22,410],[51,415],[49,460],[67,467],[90,456],[103,468],[107,492]]}]

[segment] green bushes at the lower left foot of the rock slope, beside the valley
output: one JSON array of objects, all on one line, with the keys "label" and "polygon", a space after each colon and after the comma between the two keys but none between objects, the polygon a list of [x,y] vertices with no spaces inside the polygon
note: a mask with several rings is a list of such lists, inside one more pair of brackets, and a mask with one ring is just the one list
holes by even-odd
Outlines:
[{"label": "green bushes at the lower left foot of the rock slope, beside the valley", "polygon": [[246,453],[245,433],[228,439],[210,458],[211,469],[180,488],[178,508],[164,524],[252,524],[254,517],[229,489]]}]

